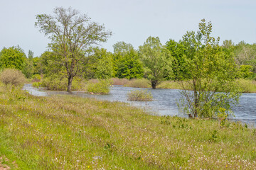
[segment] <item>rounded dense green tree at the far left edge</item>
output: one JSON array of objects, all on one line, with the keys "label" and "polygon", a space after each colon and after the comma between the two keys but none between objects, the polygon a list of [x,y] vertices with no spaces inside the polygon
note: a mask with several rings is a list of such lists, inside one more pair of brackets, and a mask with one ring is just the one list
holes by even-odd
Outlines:
[{"label": "rounded dense green tree at the far left edge", "polygon": [[12,69],[23,69],[23,63],[26,61],[26,55],[21,47],[4,47],[0,52],[0,67],[12,68]]}]

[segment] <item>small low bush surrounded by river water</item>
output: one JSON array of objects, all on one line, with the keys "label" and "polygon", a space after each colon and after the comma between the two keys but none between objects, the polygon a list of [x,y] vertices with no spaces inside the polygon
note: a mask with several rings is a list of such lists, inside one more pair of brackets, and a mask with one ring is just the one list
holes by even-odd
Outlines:
[{"label": "small low bush surrounded by river water", "polygon": [[152,101],[152,94],[147,90],[130,91],[128,94],[128,101]]}]

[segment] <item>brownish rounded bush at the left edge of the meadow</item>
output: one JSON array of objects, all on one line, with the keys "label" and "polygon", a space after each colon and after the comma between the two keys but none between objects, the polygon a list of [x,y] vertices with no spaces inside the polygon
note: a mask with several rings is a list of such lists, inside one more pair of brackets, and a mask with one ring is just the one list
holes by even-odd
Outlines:
[{"label": "brownish rounded bush at the left edge of the meadow", "polygon": [[18,69],[4,69],[1,72],[0,79],[4,84],[14,86],[22,86],[26,81],[24,74]]}]

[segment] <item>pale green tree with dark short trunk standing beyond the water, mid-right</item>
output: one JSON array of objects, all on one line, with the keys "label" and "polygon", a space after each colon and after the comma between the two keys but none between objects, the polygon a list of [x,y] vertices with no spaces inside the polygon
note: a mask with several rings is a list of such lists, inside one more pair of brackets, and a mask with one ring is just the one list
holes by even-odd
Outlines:
[{"label": "pale green tree with dark short trunk standing beyond the water, mid-right", "polygon": [[161,45],[158,37],[147,38],[144,45],[139,46],[139,55],[144,63],[146,78],[151,81],[153,89],[164,77],[171,77],[171,53]]}]

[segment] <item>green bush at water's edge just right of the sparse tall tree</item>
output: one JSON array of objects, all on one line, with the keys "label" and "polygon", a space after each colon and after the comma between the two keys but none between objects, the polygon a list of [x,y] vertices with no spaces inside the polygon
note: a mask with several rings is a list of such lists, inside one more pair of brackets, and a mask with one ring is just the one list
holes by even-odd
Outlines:
[{"label": "green bush at water's edge just right of the sparse tall tree", "polygon": [[99,80],[96,83],[87,84],[87,92],[90,94],[108,94],[110,93],[110,80]]}]

